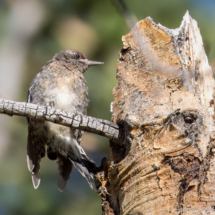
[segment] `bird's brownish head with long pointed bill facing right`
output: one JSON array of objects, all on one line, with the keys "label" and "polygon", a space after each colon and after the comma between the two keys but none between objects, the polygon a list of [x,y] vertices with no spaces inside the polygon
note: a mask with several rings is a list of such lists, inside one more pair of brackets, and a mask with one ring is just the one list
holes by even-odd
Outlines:
[{"label": "bird's brownish head with long pointed bill facing right", "polygon": [[69,63],[78,68],[83,73],[88,69],[89,66],[104,64],[103,62],[90,61],[86,58],[84,53],[70,49],[56,53],[53,60]]}]

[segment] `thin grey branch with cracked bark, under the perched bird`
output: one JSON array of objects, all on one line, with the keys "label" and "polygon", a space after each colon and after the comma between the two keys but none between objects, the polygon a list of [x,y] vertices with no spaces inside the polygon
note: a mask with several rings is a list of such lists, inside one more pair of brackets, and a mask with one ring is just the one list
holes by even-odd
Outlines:
[{"label": "thin grey branch with cracked bark, under the perched bird", "polygon": [[81,113],[70,113],[50,106],[0,99],[0,114],[43,119],[59,125],[98,134],[120,143],[117,124],[108,120],[85,116]]}]

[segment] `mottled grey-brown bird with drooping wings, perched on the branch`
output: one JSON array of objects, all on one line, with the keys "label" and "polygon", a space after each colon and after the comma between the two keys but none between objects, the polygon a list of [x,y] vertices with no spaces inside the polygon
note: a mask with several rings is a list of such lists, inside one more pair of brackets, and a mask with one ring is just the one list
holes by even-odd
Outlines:
[{"label": "mottled grey-brown bird with drooping wings, perched on the branch", "polygon": [[[56,53],[33,79],[28,90],[28,103],[86,115],[89,99],[83,74],[89,66],[100,64],[103,62],[90,61],[80,51],[67,49]],[[27,117],[27,121],[27,166],[34,188],[40,184],[40,163],[47,153],[50,160],[57,162],[59,191],[64,190],[73,166],[96,190],[96,164],[80,146],[83,131],[43,119]]]}]

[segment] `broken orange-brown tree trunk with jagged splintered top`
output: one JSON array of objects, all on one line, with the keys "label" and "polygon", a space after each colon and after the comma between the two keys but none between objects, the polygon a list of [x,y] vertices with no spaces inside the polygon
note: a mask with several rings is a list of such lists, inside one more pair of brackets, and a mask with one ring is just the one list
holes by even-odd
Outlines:
[{"label": "broken orange-brown tree trunk with jagged splintered top", "polygon": [[197,23],[178,29],[151,18],[123,36],[114,89],[103,214],[215,211],[214,79]]}]

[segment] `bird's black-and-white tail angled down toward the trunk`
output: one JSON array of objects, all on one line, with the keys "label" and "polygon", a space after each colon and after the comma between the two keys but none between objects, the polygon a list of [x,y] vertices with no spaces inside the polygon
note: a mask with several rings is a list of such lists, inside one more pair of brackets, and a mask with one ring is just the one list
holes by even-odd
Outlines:
[{"label": "bird's black-and-white tail angled down toward the trunk", "polygon": [[97,192],[98,180],[94,175],[96,164],[87,156],[83,156],[80,161],[74,161],[70,157],[69,159],[73,166],[87,179],[90,187]]}]

